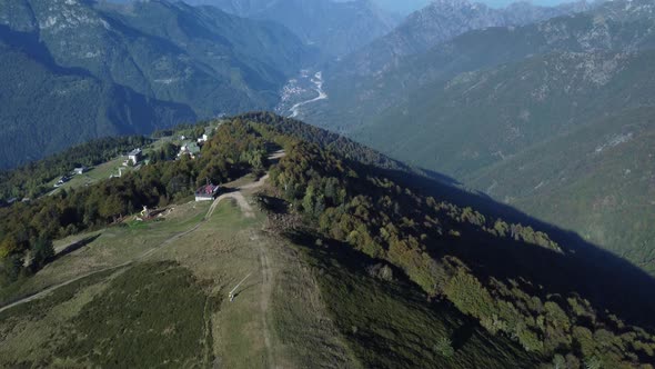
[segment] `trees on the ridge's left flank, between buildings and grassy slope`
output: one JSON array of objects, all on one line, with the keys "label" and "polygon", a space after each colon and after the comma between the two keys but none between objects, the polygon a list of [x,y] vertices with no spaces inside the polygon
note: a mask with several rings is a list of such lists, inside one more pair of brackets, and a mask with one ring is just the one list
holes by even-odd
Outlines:
[{"label": "trees on the ridge's left flank, between buildings and grassy slope", "polygon": [[[165,156],[164,146],[161,151]],[[159,157],[158,153],[154,153]],[[192,160],[155,160],[140,170],[98,184],[61,191],[54,196],[0,209],[0,285],[29,272],[23,268],[28,251],[41,266],[52,251],[48,242],[80,231],[105,227],[143,206],[163,207],[181,201],[206,180],[221,183],[265,164],[264,140],[248,124],[221,126]],[[51,246],[50,246],[51,247]],[[41,249],[46,251],[41,251]]]}]

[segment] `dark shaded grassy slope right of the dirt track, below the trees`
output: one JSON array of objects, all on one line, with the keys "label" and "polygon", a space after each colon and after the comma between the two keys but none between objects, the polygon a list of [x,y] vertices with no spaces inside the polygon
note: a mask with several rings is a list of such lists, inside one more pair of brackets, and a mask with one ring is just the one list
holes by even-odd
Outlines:
[{"label": "dark shaded grassy slope right of the dirt track, below the trees", "polygon": [[[332,248],[332,247],[331,247]],[[337,256],[339,253],[339,256]],[[305,249],[322,299],[339,331],[366,368],[522,368],[535,358],[515,342],[490,337],[445,302],[429,302],[409,281],[382,281],[362,272],[375,261],[340,248]],[[395,271],[396,276],[402,272]],[[452,340],[454,356],[435,345]]]}]

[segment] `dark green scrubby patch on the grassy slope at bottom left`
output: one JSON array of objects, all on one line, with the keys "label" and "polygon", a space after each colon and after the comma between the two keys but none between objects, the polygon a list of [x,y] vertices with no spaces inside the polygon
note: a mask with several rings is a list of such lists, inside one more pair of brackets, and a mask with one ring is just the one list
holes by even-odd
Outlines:
[{"label": "dark green scrubby patch on the grassy slope at bottom left", "polygon": [[72,320],[57,356],[100,367],[195,367],[211,347],[205,296],[173,262],[144,263],[115,278]]}]

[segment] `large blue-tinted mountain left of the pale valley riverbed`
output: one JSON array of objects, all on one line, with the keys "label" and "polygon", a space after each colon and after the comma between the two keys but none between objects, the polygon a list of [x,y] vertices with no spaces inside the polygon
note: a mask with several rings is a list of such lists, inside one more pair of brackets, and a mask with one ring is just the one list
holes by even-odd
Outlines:
[{"label": "large blue-tinted mountain left of the pale valley riverbed", "polygon": [[281,26],[168,1],[4,0],[0,42],[0,168],[91,138],[272,108],[312,54]]}]

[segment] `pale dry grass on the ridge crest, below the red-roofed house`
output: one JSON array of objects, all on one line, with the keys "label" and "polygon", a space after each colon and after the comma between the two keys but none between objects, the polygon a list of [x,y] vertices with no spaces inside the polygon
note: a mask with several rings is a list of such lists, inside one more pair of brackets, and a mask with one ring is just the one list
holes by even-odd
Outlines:
[{"label": "pale dry grass on the ridge crest, below the red-roofed house", "polygon": [[[177,260],[198,278],[212,281],[223,308],[214,312],[212,336],[216,363],[229,368],[259,368],[269,362],[264,341],[262,280],[258,232],[262,216],[245,218],[232,201],[222,201],[211,219],[153,258]],[[228,292],[248,273],[233,302]]]}]

